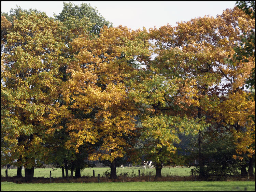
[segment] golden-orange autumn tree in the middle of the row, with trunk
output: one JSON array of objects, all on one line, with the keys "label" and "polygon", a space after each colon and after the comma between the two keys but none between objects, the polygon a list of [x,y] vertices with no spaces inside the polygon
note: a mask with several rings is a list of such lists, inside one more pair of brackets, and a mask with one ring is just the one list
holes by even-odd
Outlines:
[{"label": "golden-orange autumn tree in the middle of the row, with trunk", "polygon": [[[139,32],[138,32],[139,33]],[[75,150],[88,142],[100,144],[90,152],[89,160],[108,160],[111,178],[116,178],[116,161],[131,148],[128,138],[134,135],[137,109],[128,94],[125,80],[133,70],[133,55],[143,51],[140,38],[126,27],[104,27],[99,38],[81,35],[72,42],[79,51],[68,68],[71,78],[63,90],[71,108],[80,110],[80,118],[72,118],[68,130],[76,142]],[[141,46],[141,47],[140,47]]]}]

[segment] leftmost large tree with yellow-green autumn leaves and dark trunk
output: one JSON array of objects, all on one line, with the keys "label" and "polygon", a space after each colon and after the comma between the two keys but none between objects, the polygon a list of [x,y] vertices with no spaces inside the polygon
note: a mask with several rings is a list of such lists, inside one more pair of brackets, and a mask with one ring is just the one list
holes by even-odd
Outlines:
[{"label": "leftmost large tree with yellow-green autumn leaves and dark trunk", "polygon": [[26,180],[47,162],[48,135],[61,129],[55,125],[63,109],[57,99],[65,44],[58,29],[43,13],[20,13],[2,53],[2,163],[24,164]]}]

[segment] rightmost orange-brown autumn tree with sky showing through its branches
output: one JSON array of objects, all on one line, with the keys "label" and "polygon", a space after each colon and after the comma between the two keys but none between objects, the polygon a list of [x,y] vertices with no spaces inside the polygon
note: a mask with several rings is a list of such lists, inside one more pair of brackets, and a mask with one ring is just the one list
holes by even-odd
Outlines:
[{"label": "rightmost orange-brown autumn tree with sky showing through its branches", "polygon": [[[254,154],[248,146],[252,139],[248,136],[254,132],[254,124],[246,118],[254,113],[252,101],[246,101],[244,86],[250,76],[254,64],[254,56],[247,62],[230,65],[224,58],[234,54],[236,42],[241,42],[241,33],[251,34],[254,29],[254,19],[244,14],[238,8],[225,10],[216,19],[203,17],[181,22],[176,28],[177,45],[182,49],[184,69],[187,77],[195,80],[197,101],[193,105],[193,113],[205,116],[219,131],[230,131],[234,137],[241,134],[246,143],[238,142],[237,148],[246,149],[249,155]],[[185,102],[189,102],[184,98]],[[196,112],[196,113],[195,113]],[[238,139],[238,140],[240,140]],[[202,133],[199,133],[199,151]],[[240,140],[242,141],[242,140]],[[200,154],[199,154],[200,156]],[[204,165],[199,162],[200,175],[203,176]]]}]

